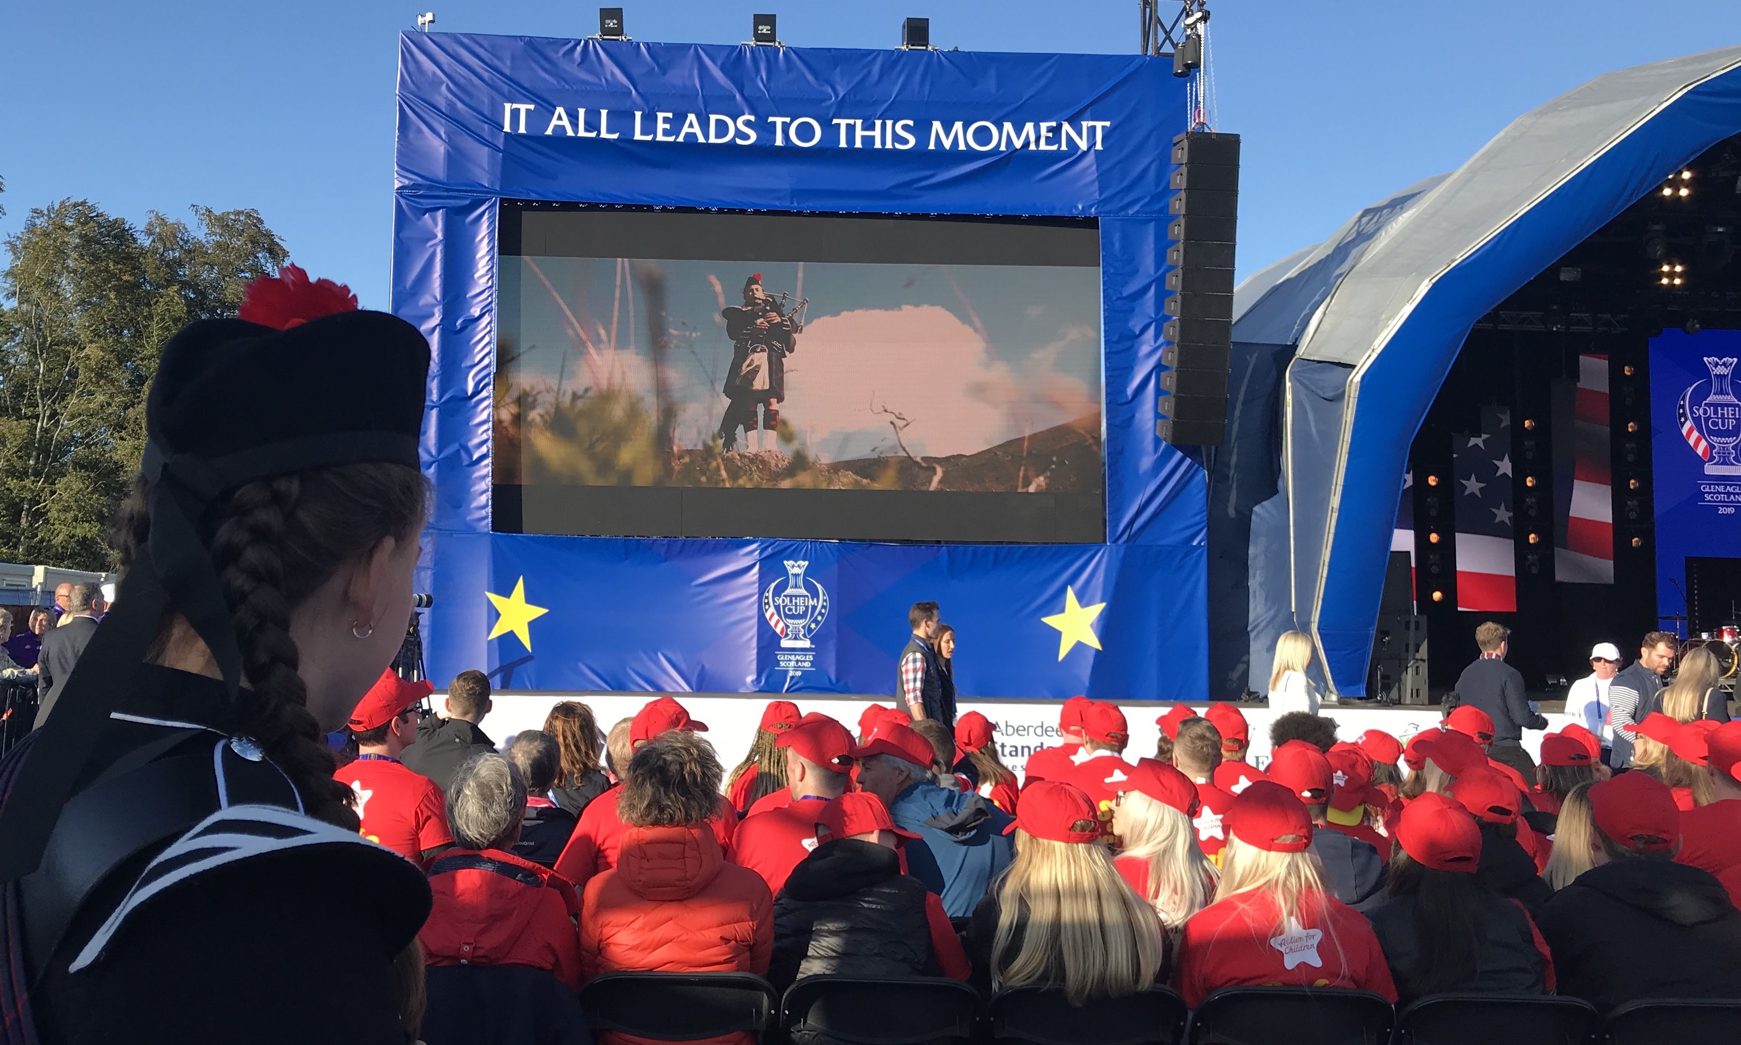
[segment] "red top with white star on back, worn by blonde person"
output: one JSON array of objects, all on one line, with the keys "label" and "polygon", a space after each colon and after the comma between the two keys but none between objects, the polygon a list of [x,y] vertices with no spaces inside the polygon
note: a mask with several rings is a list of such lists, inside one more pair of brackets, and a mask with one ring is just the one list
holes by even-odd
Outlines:
[{"label": "red top with white star on back, worn by blonde person", "polygon": [[1330,897],[1321,897],[1321,907],[1318,897],[1302,897],[1301,907],[1285,932],[1278,930],[1281,907],[1260,890],[1198,911],[1179,944],[1186,1005],[1196,1008],[1220,988],[1254,986],[1354,988],[1395,1005],[1396,984],[1372,925]]}]

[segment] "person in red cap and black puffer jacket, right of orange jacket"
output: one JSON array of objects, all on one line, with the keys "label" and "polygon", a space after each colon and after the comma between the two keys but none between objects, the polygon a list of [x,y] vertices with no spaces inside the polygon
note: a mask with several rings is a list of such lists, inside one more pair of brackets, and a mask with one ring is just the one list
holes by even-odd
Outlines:
[{"label": "person in red cap and black puffer jacket, right of orange jacket", "polygon": [[[785,880],[773,906],[768,981],[782,991],[806,975],[968,979],[944,904],[900,873],[895,822],[881,799],[850,791],[818,813],[825,841]],[[792,1033],[799,1045],[818,1035]]]}]

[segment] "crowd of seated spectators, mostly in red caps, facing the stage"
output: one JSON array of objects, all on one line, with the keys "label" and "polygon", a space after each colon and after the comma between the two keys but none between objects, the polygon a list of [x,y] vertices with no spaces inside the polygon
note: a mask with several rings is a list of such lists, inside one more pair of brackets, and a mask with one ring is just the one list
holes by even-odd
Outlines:
[{"label": "crowd of seated spectators, mostly in red caps, facing the stage", "polygon": [[[1078,698],[1065,742],[1024,777],[975,712],[951,728],[872,705],[855,735],[776,700],[728,777],[670,697],[608,740],[564,705],[547,726],[566,735],[521,733],[507,758],[458,768],[453,848],[407,852],[435,890],[423,954],[568,989],[749,972],[776,989],[823,974],[987,996],[1038,984],[1071,1005],[1156,984],[1193,1007],[1254,984],[1393,1003],[1560,993],[1603,1012],[1741,998],[1741,721],[1696,745],[1664,730],[1684,770],[1640,723],[1642,768],[1621,775],[1567,726],[1527,782],[1489,754],[1485,716],[1457,711],[1407,744],[1280,716],[1257,766],[1233,705],[1168,709],[1160,758],[1132,758],[1123,711]],[[1652,961],[1628,960],[1635,946]]]}]

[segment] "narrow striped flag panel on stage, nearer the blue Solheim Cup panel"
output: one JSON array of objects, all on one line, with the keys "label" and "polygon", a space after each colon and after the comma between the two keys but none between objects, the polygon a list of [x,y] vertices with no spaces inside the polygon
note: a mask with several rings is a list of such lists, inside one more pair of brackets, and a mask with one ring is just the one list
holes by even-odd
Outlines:
[{"label": "narrow striped flag panel on stage, nearer the blue Solheim Cup panel", "polygon": [[[1570,496],[1555,505],[1563,528],[1553,549],[1555,580],[1572,583],[1614,583],[1614,486],[1609,477],[1609,357],[1577,357],[1577,390],[1572,408]],[[1560,484],[1555,484],[1560,495]],[[1560,495],[1563,496],[1563,495]],[[1556,500],[1560,500],[1556,496]]]}]

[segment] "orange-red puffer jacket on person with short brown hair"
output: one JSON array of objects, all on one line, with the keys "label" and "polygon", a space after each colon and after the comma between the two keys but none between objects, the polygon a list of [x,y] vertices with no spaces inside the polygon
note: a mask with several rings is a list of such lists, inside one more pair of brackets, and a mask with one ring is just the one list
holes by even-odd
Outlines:
[{"label": "orange-red puffer jacket on person with short brown hair", "polygon": [[[773,897],[754,871],[728,864],[705,827],[632,827],[616,867],[587,883],[580,963],[602,972],[768,974]],[[606,1045],[637,1045],[604,1033]],[[750,1045],[750,1035],[712,1038]],[[651,1045],[651,1043],[649,1043]]]}]

